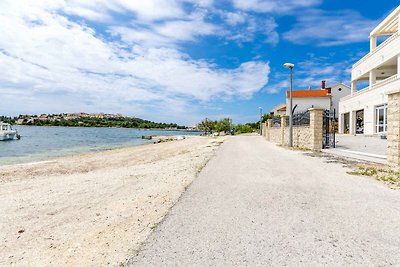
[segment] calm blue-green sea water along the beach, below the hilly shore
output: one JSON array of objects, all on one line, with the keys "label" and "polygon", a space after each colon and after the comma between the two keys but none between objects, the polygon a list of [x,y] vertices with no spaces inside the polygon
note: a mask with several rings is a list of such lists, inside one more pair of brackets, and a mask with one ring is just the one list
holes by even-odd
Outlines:
[{"label": "calm blue-green sea water along the beach, below the hilly shore", "polygon": [[149,144],[143,135],[199,135],[197,132],[123,128],[14,126],[21,140],[0,141],[0,165],[48,160],[118,147]]}]

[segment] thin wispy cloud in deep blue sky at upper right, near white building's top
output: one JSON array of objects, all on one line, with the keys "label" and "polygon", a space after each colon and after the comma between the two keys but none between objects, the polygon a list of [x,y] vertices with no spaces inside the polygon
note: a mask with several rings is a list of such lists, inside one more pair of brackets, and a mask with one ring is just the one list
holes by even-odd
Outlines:
[{"label": "thin wispy cloud in deep blue sky at upper right, near white building's top", "polygon": [[377,23],[355,11],[310,10],[298,16],[297,23],[283,36],[293,43],[319,46],[365,42]]}]

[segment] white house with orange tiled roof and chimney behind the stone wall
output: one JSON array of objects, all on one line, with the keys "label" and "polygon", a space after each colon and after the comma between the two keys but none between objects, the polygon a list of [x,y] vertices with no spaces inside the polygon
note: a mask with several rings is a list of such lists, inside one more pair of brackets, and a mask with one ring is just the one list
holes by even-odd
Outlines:
[{"label": "white house with orange tiled roof and chimney behind the stone wall", "polygon": [[[289,106],[289,94],[286,92],[286,105]],[[322,81],[320,89],[316,90],[294,90],[292,92],[294,113],[305,112],[310,108],[321,108],[324,110],[335,111],[338,114],[339,101],[342,97],[350,94],[350,87],[342,83],[331,87],[325,87]],[[289,110],[286,111],[289,114]]]}]

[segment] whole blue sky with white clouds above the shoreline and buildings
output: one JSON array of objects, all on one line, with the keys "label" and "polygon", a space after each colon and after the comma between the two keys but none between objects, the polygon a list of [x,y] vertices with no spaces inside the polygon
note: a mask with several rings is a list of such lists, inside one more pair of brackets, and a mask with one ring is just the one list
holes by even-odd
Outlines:
[{"label": "whole blue sky with white clouds above the shoreline and buildings", "polygon": [[[362,4],[361,4],[362,3]],[[294,88],[350,84],[398,0],[1,0],[0,115],[255,122]]]}]

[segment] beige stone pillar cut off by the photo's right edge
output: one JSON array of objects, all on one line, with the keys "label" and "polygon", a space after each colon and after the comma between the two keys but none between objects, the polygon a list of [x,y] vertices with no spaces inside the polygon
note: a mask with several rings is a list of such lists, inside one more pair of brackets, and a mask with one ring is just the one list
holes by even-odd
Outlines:
[{"label": "beige stone pillar cut off by the photo's right edge", "polygon": [[400,165],[400,88],[388,93],[387,159]]}]

